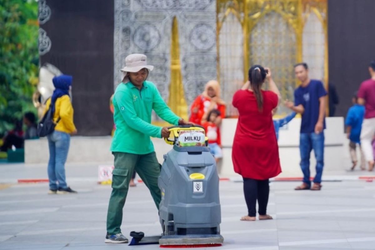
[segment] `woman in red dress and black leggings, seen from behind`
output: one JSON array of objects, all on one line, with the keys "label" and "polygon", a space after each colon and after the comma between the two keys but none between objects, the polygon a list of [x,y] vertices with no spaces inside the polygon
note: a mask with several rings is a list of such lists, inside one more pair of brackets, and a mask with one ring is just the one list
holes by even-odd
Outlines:
[{"label": "woman in red dress and black leggings, seen from behind", "polygon": [[[265,79],[269,81],[269,91],[261,90]],[[272,110],[278,106],[280,96],[270,69],[260,65],[249,69],[249,82],[233,96],[233,106],[238,109],[239,118],[232,160],[234,171],[243,177],[243,191],[248,206],[248,215],[241,220],[256,219],[257,200],[259,219],[272,219],[266,213],[269,178],[281,173]]]}]

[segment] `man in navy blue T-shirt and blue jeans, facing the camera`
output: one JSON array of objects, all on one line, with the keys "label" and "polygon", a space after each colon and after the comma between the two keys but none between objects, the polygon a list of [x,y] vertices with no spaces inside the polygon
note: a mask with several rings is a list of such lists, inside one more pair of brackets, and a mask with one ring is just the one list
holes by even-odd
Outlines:
[{"label": "man in navy blue T-shirt and blue jeans, facing the camera", "polygon": [[[323,82],[309,78],[309,69],[306,63],[294,66],[294,73],[301,81],[301,85],[294,91],[294,103],[286,101],[285,105],[302,115],[300,130],[300,154],[303,183],[295,190],[320,190],[324,167],[324,132],[326,128],[325,110],[326,95]],[[317,160],[314,185],[310,181],[310,153],[314,149]]]}]

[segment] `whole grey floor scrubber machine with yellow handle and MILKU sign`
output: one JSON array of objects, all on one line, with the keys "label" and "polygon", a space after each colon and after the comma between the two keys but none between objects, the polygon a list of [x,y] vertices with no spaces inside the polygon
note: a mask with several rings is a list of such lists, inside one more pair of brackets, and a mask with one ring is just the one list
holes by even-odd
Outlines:
[{"label": "whole grey floor scrubber machine with yellow handle and MILKU sign", "polygon": [[[204,128],[168,129],[174,139],[165,139],[173,148],[164,155],[158,180],[162,194],[160,247],[221,246],[224,239],[220,235],[219,176]],[[138,233],[141,232],[132,232],[133,239]],[[147,242],[143,235],[138,238],[139,243]]]}]

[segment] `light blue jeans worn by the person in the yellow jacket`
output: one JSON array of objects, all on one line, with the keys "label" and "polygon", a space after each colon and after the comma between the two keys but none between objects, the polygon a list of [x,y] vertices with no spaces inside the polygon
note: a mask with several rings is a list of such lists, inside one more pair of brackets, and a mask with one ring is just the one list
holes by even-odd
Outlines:
[{"label": "light blue jeans worn by the person in the yellow jacket", "polygon": [[70,135],[68,133],[55,130],[48,135],[47,138],[49,148],[49,189],[65,189],[68,187],[65,180],[65,162],[69,151]]}]

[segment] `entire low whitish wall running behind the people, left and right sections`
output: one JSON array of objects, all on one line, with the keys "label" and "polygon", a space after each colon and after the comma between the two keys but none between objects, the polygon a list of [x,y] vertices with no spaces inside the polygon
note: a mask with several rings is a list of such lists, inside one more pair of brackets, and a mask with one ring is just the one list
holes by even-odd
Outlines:
[{"label": "entire low whitish wall running behind the people, left and right sections", "polygon": [[[344,134],[344,119],[342,117],[326,118],[325,130],[324,171],[340,171],[346,165],[350,165],[348,142]],[[301,176],[299,167],[299,131],[300,118],[294,118],[285,128],[279,132],[279,152],[283,173],[281,176]],[[224,119],[222,124],[223,160],[220,166],[220,175],[236,176],[232,164],[232,143],[236,132],[237,119]],[[110,152],[112,138],[73,136],[67,162],[90,162],[100,164],[113,164],[113,156]],[[171,145],[162,139],[152,139],[159,162],[163,162],[163,154],[171,150]],[[131,143],[131,142],[129,142]],[[27,140],[25,142],[26,163],[47,163],[48,142],[45,138],[39,140]],[[314,152],[311,155],[311,166],[315,166]],[[314,167],[311,168],[314,175]]]}]

